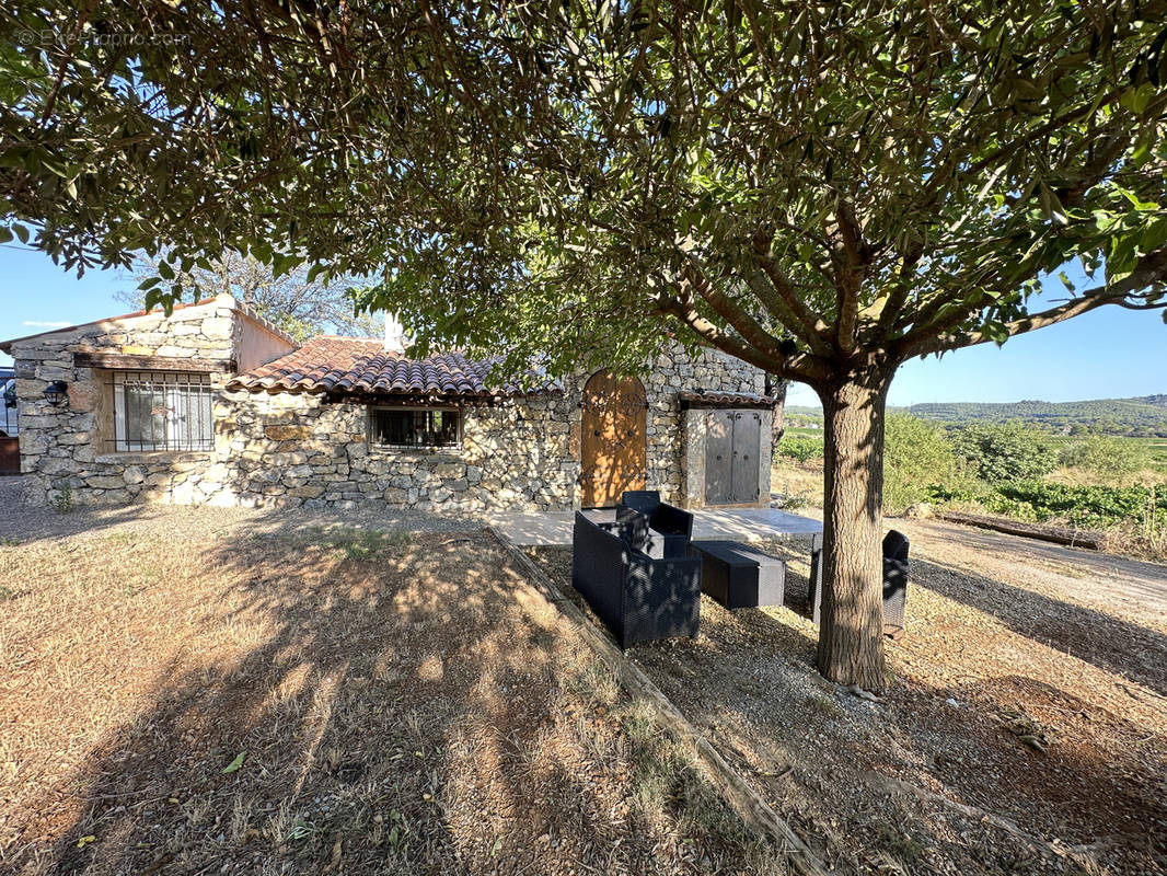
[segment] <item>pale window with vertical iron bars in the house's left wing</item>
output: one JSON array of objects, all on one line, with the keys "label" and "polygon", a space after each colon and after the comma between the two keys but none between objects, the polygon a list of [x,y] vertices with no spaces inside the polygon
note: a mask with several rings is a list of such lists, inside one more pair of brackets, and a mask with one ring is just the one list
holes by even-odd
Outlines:
[{"label": "pale window with vertical iron bars in the house's left wing", "polygon": [[113,371],[116,451],[214,450],[211,381],[187,371]]}]

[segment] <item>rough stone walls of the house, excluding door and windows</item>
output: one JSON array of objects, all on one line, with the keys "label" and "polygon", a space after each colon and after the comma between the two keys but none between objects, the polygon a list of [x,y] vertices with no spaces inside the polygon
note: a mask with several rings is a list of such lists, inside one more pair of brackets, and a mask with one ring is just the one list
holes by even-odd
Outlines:
[{"label": "rough stone walls of the house, excluding door and windows", "polygon": [[[23,471],[28,499],[68,493],[78,503],[134,500],[183,505],[350,506],[364,502],[443,513],[495,508],[578,508],[580,399],[588,375],[562,395],[462,409],[460,446],[435,450],[370,445],[368,408],[308,394],[229,391],[225,370],[211,374],[214,450],[110,452],[109,373],[78,368],[72,354],[240,360],[254,321],[229,297],[207,306],[96,324],[29,339],[13,349],[18,368]],[[287,341],[291,349],[291,341]],[[245,356],[244,356],[245,357]],[[226,366],[224,364],[224,368]],[[53,380],[69,384],[69,404],[43,399]],[[684,424],[678,392],[761,392],[757,369],[680,347],[643,377],[648,394],[648,488],[684,502]],[[764,437],[763,437],[764,440]],[[767,458],[768,453],[767,453]]]}]

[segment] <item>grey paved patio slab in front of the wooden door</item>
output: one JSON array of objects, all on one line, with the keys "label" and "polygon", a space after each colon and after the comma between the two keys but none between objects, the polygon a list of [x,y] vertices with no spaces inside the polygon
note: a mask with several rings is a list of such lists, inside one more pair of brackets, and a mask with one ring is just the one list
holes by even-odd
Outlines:
[{"label": "grey paved patio slab in front of the wooden door", "polygon": [[[615,520],[610,509],[585,512],[594,520]],[[569,545],[572,512],[495,512],[490,524],[512,544]],[[808,537],[823,531],[823,523],[777,508],[701,508],[693,512],[693,538],[757,541],[783,536]]]}]

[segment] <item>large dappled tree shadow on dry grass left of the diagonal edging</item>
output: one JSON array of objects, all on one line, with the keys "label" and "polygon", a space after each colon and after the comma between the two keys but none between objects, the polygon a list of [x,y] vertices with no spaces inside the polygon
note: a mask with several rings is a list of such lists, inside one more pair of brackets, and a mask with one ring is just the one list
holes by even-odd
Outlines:
[{"label": "large dappled tree shadow on dry grass left of the diagonal edging", "polygon": [[644,814],[643,752],[595,705],[591,654],[492,538],[249,520],[208,540],[205,573],[155,591],[193,604],[165,634],[181,644],[147,702],[77,769],[26,776],[4,800],[0,869],[701,872],[742,861],[745,846],[673,801]]}]

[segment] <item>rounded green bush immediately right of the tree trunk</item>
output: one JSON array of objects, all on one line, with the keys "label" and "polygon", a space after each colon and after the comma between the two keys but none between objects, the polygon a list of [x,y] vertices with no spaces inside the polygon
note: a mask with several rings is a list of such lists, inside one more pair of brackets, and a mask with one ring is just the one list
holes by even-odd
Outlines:
[{"label": "rounded green bush immediately right of the tree trunk", "polygon": [[952,445],[939,426],[907,413],[887,418],[883,446],[883,509],[896,514],[928,498],[929,487],[957,473]]}]

